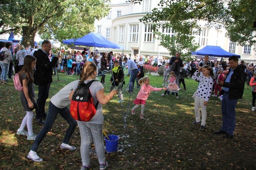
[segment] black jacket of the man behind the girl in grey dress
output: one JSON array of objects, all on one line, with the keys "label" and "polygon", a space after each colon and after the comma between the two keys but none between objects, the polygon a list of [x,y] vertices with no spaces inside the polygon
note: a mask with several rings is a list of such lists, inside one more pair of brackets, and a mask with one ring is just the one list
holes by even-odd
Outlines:
[{"label": "black jacket of the man behind the girl in grey dress", "polygon": [[58,61],[57,57],[54,57],[50,62],[50,59],[46,53],[41,49],[34,52],[36,58],[36,71],[34,72],[34,83],[36,85],[42,85],[52,82],[52,68]]}]

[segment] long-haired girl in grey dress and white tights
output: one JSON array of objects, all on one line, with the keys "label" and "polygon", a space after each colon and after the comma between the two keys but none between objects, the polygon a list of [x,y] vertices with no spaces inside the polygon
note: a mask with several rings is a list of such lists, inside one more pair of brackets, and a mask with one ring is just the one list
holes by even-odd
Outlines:
[{"label": "long-haired girl in grey dress and white tights", "polygon": [[[26,116],[23,118],[20,128],[17,130],[17,135],[27,136],[27,140],[35,140],[36,135],[33,133],[33,110],[38,108],[36,103],[36,96],[34,92],[34,78],[33,78],[33,68],[36,66],[36,58],[34,56],[27,55],[24,58],[24,66],[19,72],[19,77],[21,84],[23,86],[23,91],[21,92],[21,103],[24,110],[26,111]],[[27,125],[28,132],[24,130]]]}]

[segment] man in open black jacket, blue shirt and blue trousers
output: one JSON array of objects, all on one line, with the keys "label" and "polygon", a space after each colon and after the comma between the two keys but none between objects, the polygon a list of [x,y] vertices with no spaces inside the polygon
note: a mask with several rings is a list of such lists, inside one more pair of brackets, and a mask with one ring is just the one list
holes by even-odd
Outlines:
[{"label": "man in open black jacket, blue shirt and blue trousers", "polygon": [[222,85],[221,95],[223,95],[222,110],[222,127],[215,134],[225,134],[222,138],[232,138],[236,124],[236,103],[243,96],[245,88],[245,71],[238,67],[238,58],[231,56],[228,58],[229,67],[228,74],[224,82],[217,82]]}]

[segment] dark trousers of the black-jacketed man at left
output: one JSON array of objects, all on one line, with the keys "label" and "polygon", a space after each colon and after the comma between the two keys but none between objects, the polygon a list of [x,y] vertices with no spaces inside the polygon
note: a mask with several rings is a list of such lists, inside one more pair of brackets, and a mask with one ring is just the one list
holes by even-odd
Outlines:
[{"label": "dark trousers of the black-jacketed man at left", "polygon": [[36,119],[40,119],[41,115],[46,114],[44,107],[49,96],[50,87],[51,83],[38,86],[38,99],[36,100],[36,103],[38,103],[38,109],[36,109]]}]

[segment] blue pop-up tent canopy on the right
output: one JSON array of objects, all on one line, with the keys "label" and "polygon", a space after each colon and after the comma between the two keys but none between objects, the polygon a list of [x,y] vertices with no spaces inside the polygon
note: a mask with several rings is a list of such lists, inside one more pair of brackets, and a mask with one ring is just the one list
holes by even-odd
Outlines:
[{"label": "blue pop-up tent canopy on the right", "polygon": [[195,52],[192,52],[192,55],[198,55],[198,56],[213,56],[213,57],[224,57],[224,58],[229,58],[230,56],[237,56],[240,58],[240,55],[236,55],[233,53],[229,53],[228,51],[223,50],[220,46],[212,46],[212,45],[207,45],[201,50],[197,50]]}]

